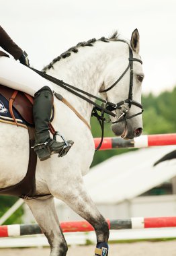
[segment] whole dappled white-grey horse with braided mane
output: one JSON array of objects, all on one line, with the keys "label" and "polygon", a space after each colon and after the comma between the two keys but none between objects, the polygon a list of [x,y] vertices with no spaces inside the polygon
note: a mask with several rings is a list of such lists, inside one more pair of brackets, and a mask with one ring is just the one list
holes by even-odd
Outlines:
[{"label": "whole dappled white-grey horse with braided mane", "polygon": [[[119,36],[114,33],[108,39],[101,38],[78,44],[61,55],[61,58],[54,59],[45,71],[95,96],[101,91],[102,98],[117,103],[129,98],[132,70],[130,71],[129,68],[116,86],[110,90],[106,89],[124,73],[129,63],[129,49],[131,49],[134,57],[131,61],[134,65],[132,94],[133,100],[140,103],[144,73],[140,63],[138,30],[134,30],[129,41],[123,42],[118,39]],[[52,88],[55,92],[62,94],[90,123],[93,108],[91,104],[56,84],[52,84]],[[142,115],[136,115],[140,108],[138,104],[132,104],[128,109],[130,103],[124,102],[121,110],[114,108],[112,112],[116,117],[111,117],[112,122],[116,122],[118,119],[123,119],[123,115],[133,116],[112,125],[112,131],[126,139],[136,137],[142,132]],[[54,106],[55,117],[52,125],[66,139],[73,139],[75,143],[63,158],[58,158],[55,154],[44,162],[38,160],[36,191],[38,194],[50,193],[51,195],[32,200],[25,199],[25,201],[48,238],[51,248],[50,256],[64,256],[68,248],[60,230],[54,197],[67,203],[93,226],[97,236],[97,247],[101,242],[107,243],[109,230],[107,222],[95,207],[83,183],[83,175],[89,171],[95,152],[91,131],[68,106],[56,98],[54,98]],[[6,123],[0,124],[0,136],[0,187],[3,188],[15,185],[24,178],[28,168],[29,142],[27,129]],[[95,255],[107,255],[107,253],[95,253]]]}]

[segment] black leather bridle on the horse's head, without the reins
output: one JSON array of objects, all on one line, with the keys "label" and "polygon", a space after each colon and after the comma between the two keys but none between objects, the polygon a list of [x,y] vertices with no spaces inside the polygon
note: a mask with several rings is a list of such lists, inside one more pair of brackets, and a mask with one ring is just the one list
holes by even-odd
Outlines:
[{"label": "black leather bridle on the horse's head, without the reins", "polygon": [[[127,43],[125,40],[118,40],[118,41]],[[129,87],[128,98],[126,100],[122,100],[122,101],[116,103],[116,106],[111,106],[111,105],[108,105],[108,104],[106,106],[106,109],[109,110],[109,111],[114,111],[116,109],[120,109],[121,114],[116,115],[116,118],[118,120],[115,121],[115,122],[112,122],[112,123],[120,123],[122,121],[126,121],[127,119],[131,119],[132,117],[136,117],[137,115],[140,115],[143,112],[142,104],[140,104],[140,103],[138,103],[138,102],[136,102],[135,100],[132,99],[133,61],[138,61],[141,64],[142,64],[142,61],[140,59],[136,59],[136,58],[133,57],[132,49],[130,48],[130,46],[129,46],[129,59],[128,60],[129,60],[128,67],[126,67],[125,71],[122,73],[122,75],[120,75],[120,77],[116,80],[116,82],[114,84],[112,84],[112,86],[109,86],[109,88],[99,91],[99,92],[107,92],[107,91],[111,90],[112,88],[114,88],[114,86],[116,86],[116,84],[118,84],[118,82],[120,82],[122,77],[124,77],[124,75],[126,74],[128,69],[130,69],[130,87]],[[128,103],[127,107],[124,106],[125,103]],[[126,114],[130,111],[130,108],[131,108],[132,104],[135,105],[135,106],[138,106],[138,108],[141,108],[142,110],[139,113],[136,113],[134,115],[131,115],[131,116],[127,117]]]}]

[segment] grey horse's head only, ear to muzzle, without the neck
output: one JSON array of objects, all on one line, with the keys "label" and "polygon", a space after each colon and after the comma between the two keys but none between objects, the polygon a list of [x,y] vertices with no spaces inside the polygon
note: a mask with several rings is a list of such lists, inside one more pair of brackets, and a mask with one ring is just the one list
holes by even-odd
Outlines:
[{"label": "grey horse's head only, ear to muzzle, without the neck", "polygon": [[[116,117],[111,117],[112,131],[124,139],[138,137],[142,133],[141,84],[144,78],[139,55],[138,30],[132,32],[130,42],[117,40],[118,57],[107,65],[101,96],[116,102],[111,108]],[[118,79],[117,79],[118,78]]]}]

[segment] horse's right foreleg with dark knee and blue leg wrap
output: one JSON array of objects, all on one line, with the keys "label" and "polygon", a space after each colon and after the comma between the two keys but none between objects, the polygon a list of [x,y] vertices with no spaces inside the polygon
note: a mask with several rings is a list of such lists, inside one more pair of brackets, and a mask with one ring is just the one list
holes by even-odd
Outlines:
[{"label": "horse's right foreleg with dark knee and blue leg wrap", "polygon": [[[109,227],[103,218],[103,216],[97,210],[97,207],[93,203],[91,197],[85,190],[83,183],[71,183],[69,181],[69,187],[64,187],[62,191],[62,201],[67,203],[79,216],[87,220],[93,228],[97,236],[97,249],[95,250],[95,255],[104,255],[108,253],[107,241],[109,238]],[[101,192],[100,192],[101,193]],[[56,191],[52,191],[54,197],[58,197]],[[60,194],[59,197],[60,198]],[[104,253],[103,253],[103,249]]]}]

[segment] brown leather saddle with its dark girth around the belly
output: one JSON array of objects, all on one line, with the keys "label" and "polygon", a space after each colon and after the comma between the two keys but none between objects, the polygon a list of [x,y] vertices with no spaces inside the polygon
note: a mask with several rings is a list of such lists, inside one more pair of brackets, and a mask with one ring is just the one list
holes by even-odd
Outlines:
[{"label": "brown leather saddle with its dark girth around the belly", "polygon": [[[24,92],[19,92],[6,86],[0,86],[0,95],[9,102],[9,113],[14,122],[11,123],[17,126],[24,126],[28,129],[30,137],[30,156],[28,162],[28,170],[26,176],[19,183],[0,189],[0,195],[14,195],[17,197],[28,199],[28,197],[36,197],[36,163],[37,156],[32,146],[34,146],[34,121],[33,121],[33,98],[32,96],[25,94]],[[18,122],[19,119],[15,118],[15,112],[21,116],[21,119],[24,119],[25,125]],[[0,124],[1,125],[1,124]]]}]

